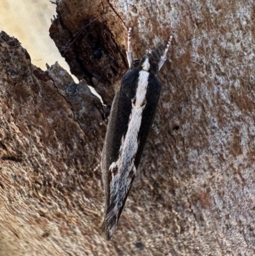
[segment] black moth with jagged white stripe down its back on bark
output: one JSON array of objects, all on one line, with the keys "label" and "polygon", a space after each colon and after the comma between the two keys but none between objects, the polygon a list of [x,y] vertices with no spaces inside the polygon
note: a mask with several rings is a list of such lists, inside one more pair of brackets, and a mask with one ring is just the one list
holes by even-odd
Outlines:
[{"label": "black moth with jagged white stripe down its back on bark", "polygon": [[119,222],[136,176],[161,91],[157,73],[166,61],[170,43],[171,36],[158,64],[154,63],[151,50],[133,60],[131,28],[128,29],[129,70],[113,99],[101,158],[106,197],[102,230],[107,240]]}]

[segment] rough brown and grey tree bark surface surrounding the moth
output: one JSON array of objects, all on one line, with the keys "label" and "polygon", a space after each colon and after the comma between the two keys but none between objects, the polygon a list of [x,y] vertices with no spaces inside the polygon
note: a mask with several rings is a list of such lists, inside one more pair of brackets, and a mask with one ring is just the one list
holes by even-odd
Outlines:
[{"label": "rough brown and grey tree bark surface surrounding the moth", "polygon": [[[255,255],[254,22],[251,0],[58,1],[50,36],[79,84],[57,63],[33,66],[2,32],[0,255]],[[173,40],[140,174],[106,242],[99,162],[128,27],[138,58]]]}]

